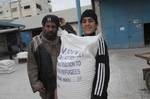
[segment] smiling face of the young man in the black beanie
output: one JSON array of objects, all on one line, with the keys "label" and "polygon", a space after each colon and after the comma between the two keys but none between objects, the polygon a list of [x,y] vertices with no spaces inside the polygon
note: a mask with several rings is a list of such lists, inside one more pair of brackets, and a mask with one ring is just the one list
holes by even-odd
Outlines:
[{"label": "smiling face of the young man in the black beanie", "polygon": [[86,36],[91,35],[97,29],[97,23],[91,17],[84,17],[81,22],[83,32]]}]

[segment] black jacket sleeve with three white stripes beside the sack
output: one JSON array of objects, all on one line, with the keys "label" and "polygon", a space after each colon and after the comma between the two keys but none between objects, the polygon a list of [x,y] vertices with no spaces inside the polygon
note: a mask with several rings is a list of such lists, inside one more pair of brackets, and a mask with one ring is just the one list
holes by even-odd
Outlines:
[{"label": "black jacket sleeve with three white stripes beside the sack", "polygon": [[99,48],[95,66],[95,77],[92,87],[91,99],[107,99],[107,88],[110,78],[109,55],[103,37],[99,40]]}]

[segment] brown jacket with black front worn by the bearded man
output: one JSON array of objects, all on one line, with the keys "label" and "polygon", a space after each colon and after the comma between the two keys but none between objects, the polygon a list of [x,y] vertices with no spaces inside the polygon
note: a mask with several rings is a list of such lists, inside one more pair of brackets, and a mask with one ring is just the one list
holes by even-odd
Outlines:
[{"label": "brown jacket with black front worn by the bearded man", "polygon": [[28,76],[33,92],[42,83],[48,92],[56,89],[56,65],[60,38],[48,41],[41,35],[33,38],[28,48]]}]

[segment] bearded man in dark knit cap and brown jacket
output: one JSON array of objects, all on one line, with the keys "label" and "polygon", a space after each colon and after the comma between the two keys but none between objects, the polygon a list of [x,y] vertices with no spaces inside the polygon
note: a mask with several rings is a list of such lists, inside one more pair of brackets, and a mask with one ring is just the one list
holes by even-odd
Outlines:
[{"label": "bearded man in dark knit cap and brown jacket", "polygon": [[57,36],[59,18],[46,15],[42,20],[42,32],[31,41],[28,49],[27,70],[33,92],[42,99],[54,99],[56,92],[56,64],[60,52]]}]

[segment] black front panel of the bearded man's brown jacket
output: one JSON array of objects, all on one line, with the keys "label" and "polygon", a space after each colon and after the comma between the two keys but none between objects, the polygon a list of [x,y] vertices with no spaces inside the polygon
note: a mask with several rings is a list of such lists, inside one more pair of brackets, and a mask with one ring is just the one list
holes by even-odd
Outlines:
[{"label": "black front panel of the bearded man's brown jacket", "polygon": [[39,45],[34,56],[38,64],[40,81],[46,90],[54,90],[56,88],[56,75],[53,70],[51,53],[43,45]]}]

